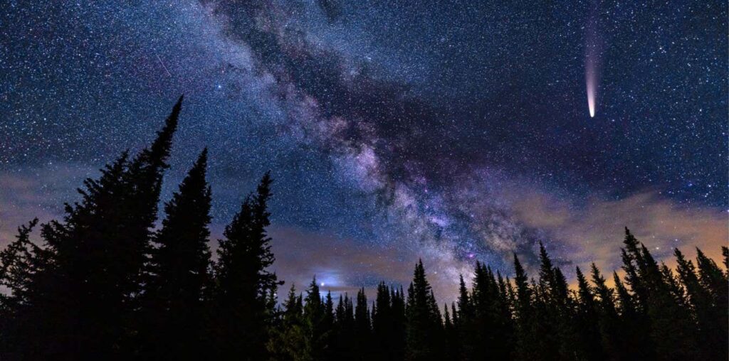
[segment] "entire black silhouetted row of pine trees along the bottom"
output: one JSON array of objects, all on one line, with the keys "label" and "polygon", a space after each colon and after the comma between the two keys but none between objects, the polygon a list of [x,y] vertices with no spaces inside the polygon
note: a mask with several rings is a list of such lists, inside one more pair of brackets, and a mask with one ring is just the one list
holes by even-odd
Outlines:
[{"label": "entire black silhouetted row of pine trees along the bottom", "polygon": [[[0,360],[727,360],[729,250],[658,263],[628,229],[612,285],[592,264],[568,286],[540,245],[537,277],[476,263],[437,304],[419,261],[406,290],[281,301],[269,271],[270,174],[208,246],[203,149],[157,205],[182,97],[153,143],[87,179],[62,221],[20,226],[0,251]],[[40,228],[42,242],[31,239]]]}]

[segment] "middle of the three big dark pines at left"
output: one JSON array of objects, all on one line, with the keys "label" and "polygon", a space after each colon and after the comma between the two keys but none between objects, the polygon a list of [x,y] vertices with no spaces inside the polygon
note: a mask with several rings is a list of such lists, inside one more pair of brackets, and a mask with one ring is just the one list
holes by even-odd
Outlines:
[{"label": "middle of the three big dark pines at left", "polygon": [[206,167],[207,149],[165,205],[167,217],[155,237],[143,311],[143,352],[153,358],[198,360],[208,352],[202,332],[211,285]]}]

